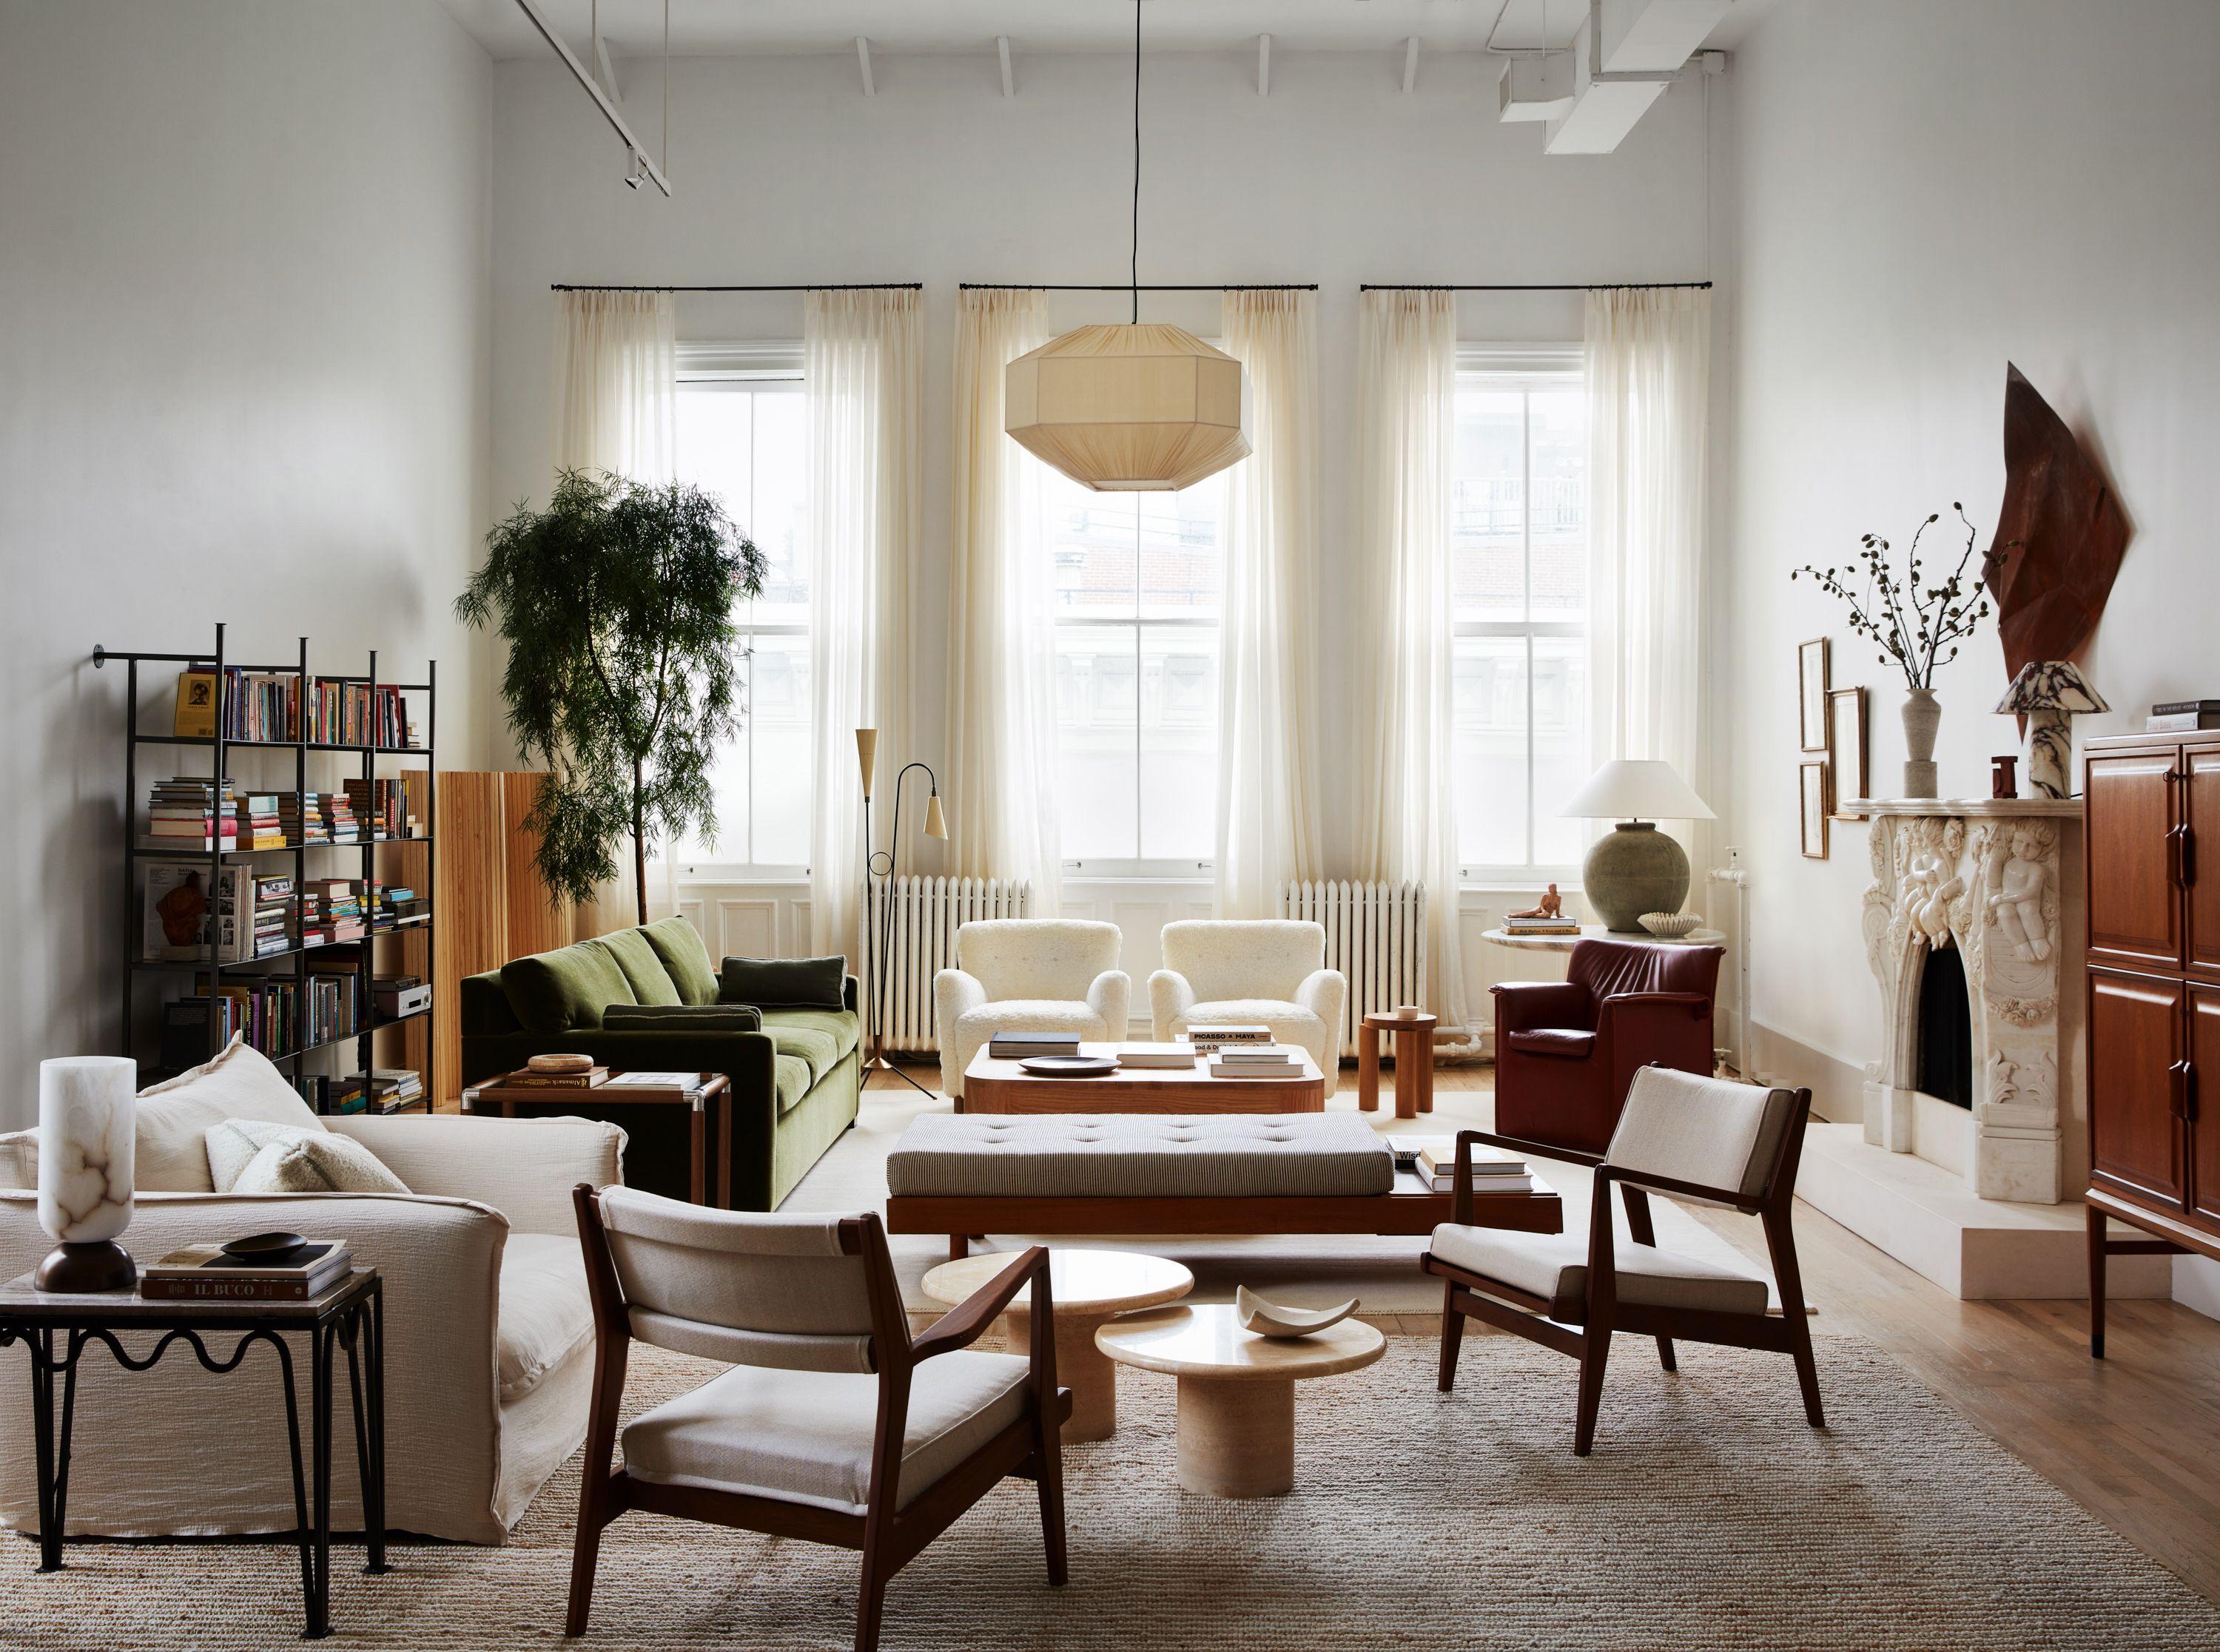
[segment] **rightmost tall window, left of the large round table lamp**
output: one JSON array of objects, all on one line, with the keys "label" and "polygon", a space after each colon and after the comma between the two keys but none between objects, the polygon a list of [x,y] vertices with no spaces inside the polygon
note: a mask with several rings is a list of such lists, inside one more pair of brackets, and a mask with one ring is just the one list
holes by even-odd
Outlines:
[{"label": "rightmost tall window, left of the large round table lamp", "polygon": [[1467,875],[1563,870],[1587,779],[1587,400],[1578,357],[1456,375],[1456,853]]}]

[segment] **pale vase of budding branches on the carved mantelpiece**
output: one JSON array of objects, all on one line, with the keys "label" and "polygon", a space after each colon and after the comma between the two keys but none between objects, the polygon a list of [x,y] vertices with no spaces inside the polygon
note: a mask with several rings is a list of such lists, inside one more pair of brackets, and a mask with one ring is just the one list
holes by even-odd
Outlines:
[{"label": "pale vase of budding branches on the carved mantelpiece", "polygon": [[[1956,659],[1960,644],[1989,617],[1989,597],[1982,595],[1980,582],[1989,564],[2011,548],[1989,551],[1969,577],[1974,524],[1965,520],[1965,506],[1956,500],[1951,511],[1965,526],[1965,551],[1958,553],[1958,566],[1940,582],[1923,584],[1931,575],[1920,562],[1920,540],[1927,528],[1943,520],[1940,511],[1929,513],[1911,533],[1903,573],[1891,560],[1894,546],[1878,533],[1860,535],[1858,560],[1851,566],[1814,568],[1805,564],[1789,571],[1789,580],[1809,573],[1818,580],[1820,591],[1840,597],[1849,606],[1849,628],[1883,646],[1880,664],[1905,673],[1905,797],[1936,795],[1936,728],[1943,722],[1943,708],[1936,704],[1936,666]],[[1863,593],[1845,584],[1856,582],[1860,566],[1865,568]],[[1945,648],[1949,653],[1943,653]]]}]

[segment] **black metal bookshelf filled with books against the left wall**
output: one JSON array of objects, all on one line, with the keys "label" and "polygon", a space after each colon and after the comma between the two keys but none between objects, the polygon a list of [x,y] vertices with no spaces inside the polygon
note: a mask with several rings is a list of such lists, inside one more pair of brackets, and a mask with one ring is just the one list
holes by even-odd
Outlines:
[{"label": "black metal bookshelf filled with books against the left wall", "polygon": [[118,1052],[151,1084],[244,1030],[320,1112],[424,1106],[435,1006],[389,1013],[369,984],[431,975],[437,664],[422,682],[386,682],[375,651],[315,668],[306,637],[289,664],[242,664],[224,635],[93,648],[124,675]]}]

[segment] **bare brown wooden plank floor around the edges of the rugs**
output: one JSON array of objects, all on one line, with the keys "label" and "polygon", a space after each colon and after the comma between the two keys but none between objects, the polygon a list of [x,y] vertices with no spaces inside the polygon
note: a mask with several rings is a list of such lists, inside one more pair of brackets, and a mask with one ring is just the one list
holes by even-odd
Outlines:
[{"label": "bare brown wooden plank floor around the edges of the rugs", "polygon": [[[1343,1072],[1330,1106],[1350,1106],[1354,1077]],[[1381,1090],[1392,1090],[1392,1072]],[[1494,1090],[1494,1068],[1441,1068],[1434,1090],[1436,1128],[1454,1128],[1479,1099],[1472,1092]],[[1765,1255],[1756,1219],[1689,1210],[1743,1252]],[[1976,1428],[2220,1603],[2220,1321],[2171,1301],[2113,1301],[2107,1357],[2089,1359],[2087,1303],[1958,1301],[1805,1203],[1796,1206],[1796,1250],[1823,1317],[1885,1348]],[[1403,1314],[1383,1328],[1432,1334],[1439,1321]],[[1825,1386],[1825,1343],[1818,1352]],[[1980,1541],[1980,1532],[1943,1537]]]}]

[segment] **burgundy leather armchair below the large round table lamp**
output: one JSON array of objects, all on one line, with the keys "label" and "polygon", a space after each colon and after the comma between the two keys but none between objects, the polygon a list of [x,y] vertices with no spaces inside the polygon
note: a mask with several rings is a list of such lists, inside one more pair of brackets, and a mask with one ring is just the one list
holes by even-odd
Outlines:
[{"label": "burgundy leather armchair below the large round table lamp", "polygon": [[1496,986],[1496,1132],[1603,1152],[1636,1070],[1707,1075],[1721,957],[1574,941],[1563,981]]}]

